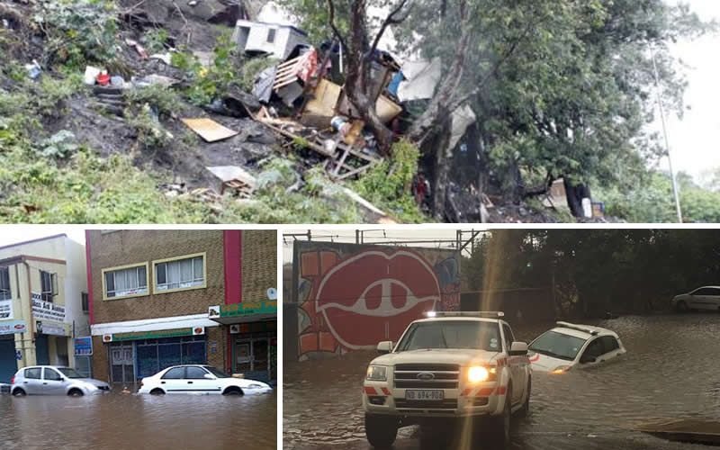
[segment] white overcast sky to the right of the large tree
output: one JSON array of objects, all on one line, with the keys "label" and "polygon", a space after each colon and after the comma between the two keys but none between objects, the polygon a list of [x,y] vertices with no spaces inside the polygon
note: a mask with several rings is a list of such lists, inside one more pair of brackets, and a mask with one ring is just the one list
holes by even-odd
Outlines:
[{"label": "white overcast sky to the right of the large tree", "polygon": [[[677,4],[680,0],[668,0]],[[690,5],[701,19],[720,22],[720,0],[681,0]],[[713,167],[720,167],[720,35],[707,35],[698,40],[680,41],[671,46],[674,56],[689,66],[686,72],[689,87],[685,103],[691,108],[680,121],[668,114],[673,169],[698,178]],[[656,125],[660,130],[659,124]],[[667,168],[667,160],[663,161]]]}]

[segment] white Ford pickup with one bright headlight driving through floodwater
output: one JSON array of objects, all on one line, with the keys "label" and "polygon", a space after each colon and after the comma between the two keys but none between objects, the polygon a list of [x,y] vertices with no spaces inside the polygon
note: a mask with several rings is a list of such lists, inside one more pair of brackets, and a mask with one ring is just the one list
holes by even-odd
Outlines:
[{"label": "white Ford pickup with one bright headlight driving through floodwater", "polygon": [[492,440],[505,446],[512,414],[530,406],[527,344],[515,342],[502,312],[426,315],[397,345],[377,346],[384,355],[370,363],[363,385],[367,440],[388,447],[398,428],[446,428],[448,419],[473,418],[490,422]]}]

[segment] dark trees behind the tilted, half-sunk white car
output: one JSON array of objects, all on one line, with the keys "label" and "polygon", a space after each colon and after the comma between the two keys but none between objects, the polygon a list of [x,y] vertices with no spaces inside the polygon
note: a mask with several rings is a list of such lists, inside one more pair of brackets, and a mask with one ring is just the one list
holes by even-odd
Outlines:
[{"label": "dark trees behind the tilted, half-sunk white car", "polygon": [[664,311],[715,284],[718,252],[713,229],[498,229],[474,243],[463,278],[468,291],[554,287],[559,315],[599,318]]}]

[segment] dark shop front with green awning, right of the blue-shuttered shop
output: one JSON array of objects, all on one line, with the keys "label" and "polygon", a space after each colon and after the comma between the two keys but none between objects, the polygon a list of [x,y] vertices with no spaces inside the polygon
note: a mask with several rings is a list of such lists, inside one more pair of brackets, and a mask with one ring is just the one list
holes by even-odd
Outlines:
[{"label": "dark shop front with green awning, right of the blue-shuttered shop", "polygon": [[277,302],[213,306],[208,319],[228,329],[232,374],[268,383],[277,380]]}]

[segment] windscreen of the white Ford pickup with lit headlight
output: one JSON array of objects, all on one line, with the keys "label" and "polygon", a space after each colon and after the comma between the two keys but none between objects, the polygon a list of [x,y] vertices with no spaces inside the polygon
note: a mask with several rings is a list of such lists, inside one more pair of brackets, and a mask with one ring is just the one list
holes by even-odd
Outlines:
[{"label": "windscreen of the white Ford pickup with lit headlight", "polygon": [[419,322],[410,326],[396,351],[422,348],[470,348],[500,352],[500,327],[496,322],[473,320]]}]

